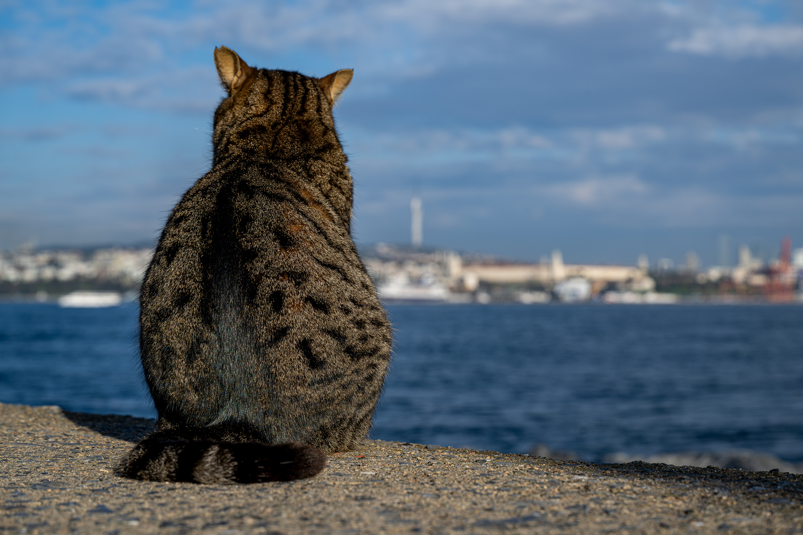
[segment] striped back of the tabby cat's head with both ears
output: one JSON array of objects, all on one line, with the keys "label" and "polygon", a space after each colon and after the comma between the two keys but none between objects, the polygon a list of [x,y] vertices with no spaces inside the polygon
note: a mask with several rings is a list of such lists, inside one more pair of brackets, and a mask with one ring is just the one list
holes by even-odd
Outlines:
[{"label": "striped back of the tabby cat's head with both ears", "polygon": [[351,69],[323,78],[257,69],[226,47],[214,49],[214,64],[228,93],[214,114],[216,160],[226,146],[254,133],[275,135],[272,146],[283,157],[320,149],[332,136],[336,141],[332,107],[351,82]]}]

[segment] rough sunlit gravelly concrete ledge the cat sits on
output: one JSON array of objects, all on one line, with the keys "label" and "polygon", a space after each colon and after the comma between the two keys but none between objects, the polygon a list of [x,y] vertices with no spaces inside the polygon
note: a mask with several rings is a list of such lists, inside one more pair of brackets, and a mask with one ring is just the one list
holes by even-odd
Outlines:
[{"label": "rough sunlit gravelly concrete ledge the cat sits on", "polygon": [[112,472],[153,420],[0,403],[0,533],[803,533],[803,476],[367,440],[309,480]]}]

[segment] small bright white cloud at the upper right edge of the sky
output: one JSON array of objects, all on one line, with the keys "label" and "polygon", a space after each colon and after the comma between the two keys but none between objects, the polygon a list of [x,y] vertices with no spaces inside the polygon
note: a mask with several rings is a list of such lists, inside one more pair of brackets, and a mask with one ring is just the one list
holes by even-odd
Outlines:
[{"label": "small bright white cloud at the upper right edge of the sky", "polygon": [[715,26],[696,28],[666,47],[674,52],[732,58],[803,54],[803,26]]}]

